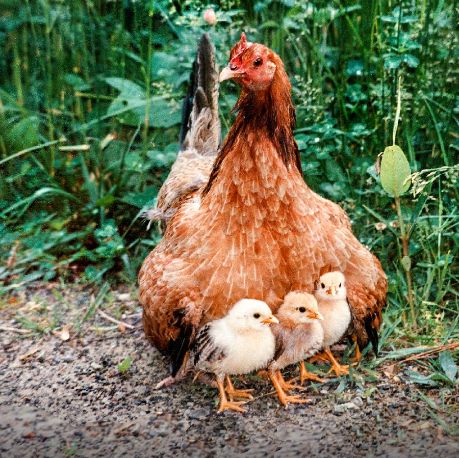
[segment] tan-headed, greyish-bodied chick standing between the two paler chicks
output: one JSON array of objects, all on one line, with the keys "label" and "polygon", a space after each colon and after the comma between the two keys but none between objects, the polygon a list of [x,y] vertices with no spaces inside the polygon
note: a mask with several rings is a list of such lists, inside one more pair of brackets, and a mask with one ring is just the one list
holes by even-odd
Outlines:
[{"label": "tan-headed, greyish-bodied chick standing between the two paler chicks", "polygon": [[269,378],[285,407],[288,402],[308,402],[308,399],[286,394],[286,391],[292,388],[304,388],[285,382],[281,369],[300,362],[301,383],[305,379],[322,382],[316,375],[308,373],[304,367],[304,359],[310,358],[322,348],[323,329],[320,320],[323,317],[319,313],[317,301],[313,295],[305,292],[289,292],[279,307],[276,318],[279,324],[272,327],[276,337],[276,356],[268,366]]}]

